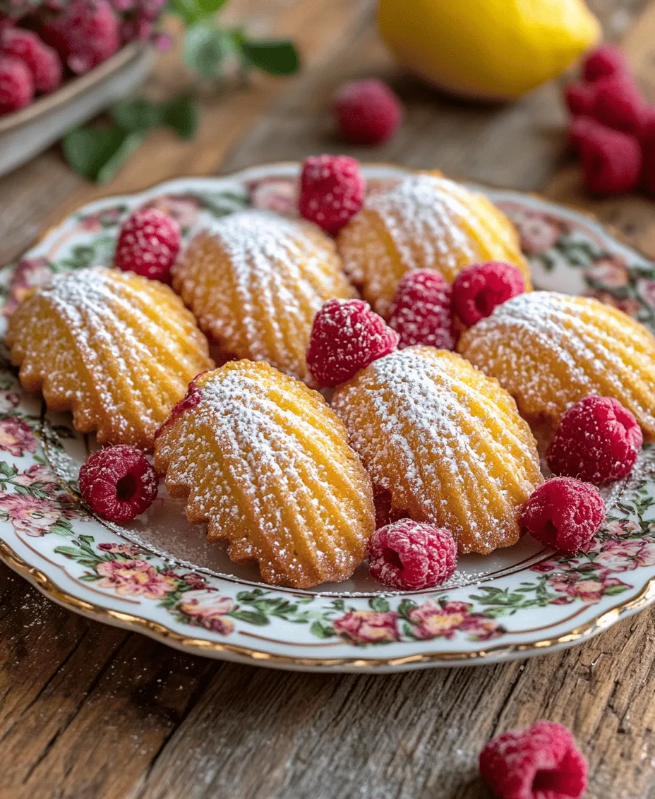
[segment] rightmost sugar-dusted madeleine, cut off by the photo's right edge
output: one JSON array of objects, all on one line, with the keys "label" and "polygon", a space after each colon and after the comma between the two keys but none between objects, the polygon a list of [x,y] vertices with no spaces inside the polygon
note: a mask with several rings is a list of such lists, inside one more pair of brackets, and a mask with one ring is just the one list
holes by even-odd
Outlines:
[{"label": "rightmost sugar-dusted madeleine, cut off by the photo's right edge", "polygon": [[655,339],[617,308],[590,297],[513,297],[462,336],[462,355],[514,397],[528,419],[556,425],[590,394],[613,397],[655,438]]}]

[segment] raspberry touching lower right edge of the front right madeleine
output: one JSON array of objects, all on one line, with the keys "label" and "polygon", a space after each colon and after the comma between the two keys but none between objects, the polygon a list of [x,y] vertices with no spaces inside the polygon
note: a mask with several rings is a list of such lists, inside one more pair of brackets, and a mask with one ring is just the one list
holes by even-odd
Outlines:
[{"label": "raspberry touching lower right edge of the front right madeleine", "polygon": [[534,538],[562,552],[590,543],[605,520],[597,489],[573,477],[554,477],[533,491],[523,506],[521,525]]}]

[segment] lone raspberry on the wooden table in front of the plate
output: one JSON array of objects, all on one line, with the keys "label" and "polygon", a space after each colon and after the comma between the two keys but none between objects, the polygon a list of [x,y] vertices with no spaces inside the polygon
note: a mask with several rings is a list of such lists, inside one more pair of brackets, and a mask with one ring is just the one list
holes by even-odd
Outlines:
[{"label": "lone raspberry on the wooden table in front of the plate", "polygon": [[498,735],[480,753],[480,774],[499,799],[580,799],[587,763],[570,730],[553,721]]}]

